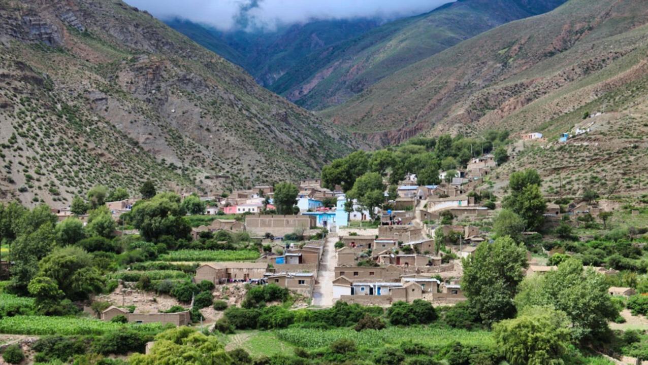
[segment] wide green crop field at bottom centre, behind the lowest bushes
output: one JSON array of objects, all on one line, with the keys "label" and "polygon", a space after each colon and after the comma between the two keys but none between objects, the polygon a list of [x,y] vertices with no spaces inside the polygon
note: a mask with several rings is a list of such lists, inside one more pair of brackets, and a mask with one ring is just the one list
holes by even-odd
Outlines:
[{"label": "wide green crop field at bottom centre, behind the lowest bushes", "polygon": [[454,341],[459,341],[465,345],[489,345],[493,343],[491,334],[487,331],[467,331],[465,329],[440,327],[388,327],[379,331],[366,329],[361,332],[356,332],[351,328],[288,328],[276,331],[275,335],[280,340],[303,348],[329,346],[329,344],[340,338],[349,338],[354,340],[358,346],[365,347],[399,344],[405,340],[435,346],[443,346]]}]

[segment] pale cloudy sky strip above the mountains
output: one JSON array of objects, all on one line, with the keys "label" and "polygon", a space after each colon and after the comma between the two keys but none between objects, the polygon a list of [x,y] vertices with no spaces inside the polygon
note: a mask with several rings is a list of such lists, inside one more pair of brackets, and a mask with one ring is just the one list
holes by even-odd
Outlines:
[{"label": "pale cloudy sky strip above the mountains", "polygon": [[347,19],[422,14],[454,0],[125,0],[160,19],[180,17],[233,28],[240,19],[257,27],[301,23],[308,19]]}]

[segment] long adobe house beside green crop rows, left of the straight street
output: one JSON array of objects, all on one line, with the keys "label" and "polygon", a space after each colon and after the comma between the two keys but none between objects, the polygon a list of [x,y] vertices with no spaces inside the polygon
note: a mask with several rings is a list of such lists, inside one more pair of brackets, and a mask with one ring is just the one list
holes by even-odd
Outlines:
[{"label": "long adobe house beside green crop rows, left of the straight street", "polygon": [[205,263],[196,269],[194,282],[208,280],[214,284],[224,284],[229,280],[262,279],[268,269],[263,262],[214,262]]}]

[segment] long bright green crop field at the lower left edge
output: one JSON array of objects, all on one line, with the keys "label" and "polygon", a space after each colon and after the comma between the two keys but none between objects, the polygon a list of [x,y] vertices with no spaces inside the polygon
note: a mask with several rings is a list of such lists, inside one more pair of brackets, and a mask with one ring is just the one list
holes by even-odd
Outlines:
[{"label": "long bright green crop field at the lower left edge", "polygon": [[11,335],[103,335],[132,328],[145,333],[159,333],[160,324],[119,324],[101,320],[57,316],[13,316],[0,319],[0,333]]}]

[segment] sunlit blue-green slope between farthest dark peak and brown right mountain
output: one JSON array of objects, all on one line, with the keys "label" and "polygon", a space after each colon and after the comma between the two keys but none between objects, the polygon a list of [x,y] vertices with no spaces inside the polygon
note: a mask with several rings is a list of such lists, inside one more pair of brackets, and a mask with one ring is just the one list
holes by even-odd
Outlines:
[{"label": "sunlit blue-green slope between farthest dark peak and brown right mountain", "polygon": [[565,0],[459,0],[309,54],[269,89],[308,109],[345,102],[396,71]]}]

